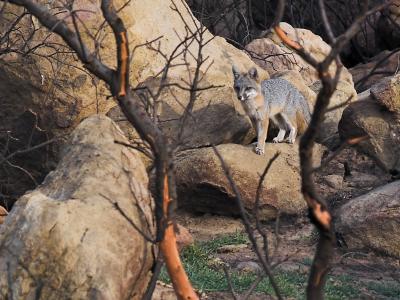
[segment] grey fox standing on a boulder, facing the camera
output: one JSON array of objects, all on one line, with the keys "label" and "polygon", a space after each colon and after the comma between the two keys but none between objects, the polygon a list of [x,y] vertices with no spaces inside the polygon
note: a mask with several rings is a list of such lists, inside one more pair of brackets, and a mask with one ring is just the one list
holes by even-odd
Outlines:
[{"label": "grey fox standing on a boulder, facing the camera", "polygon": [[232,66],[236,95],[250,117],[257,132],[255,152],[264,154],[269,119],[279,128],[274,143],[287,141],[294,143],[298,130],[304,132],[311,113],[307,100],[290,82],[282,78],[264,80],[260,83],[256,68],[241,73]]}]

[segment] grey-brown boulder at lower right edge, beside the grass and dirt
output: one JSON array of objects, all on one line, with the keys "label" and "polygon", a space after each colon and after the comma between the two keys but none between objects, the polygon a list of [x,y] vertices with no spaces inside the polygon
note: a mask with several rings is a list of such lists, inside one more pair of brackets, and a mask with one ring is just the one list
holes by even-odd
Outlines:
[{"label": "grey-brown boulder at lower right edge, beside the grass and dirt", "polygon": [[400,181],[342,206],[336,230],[349,248],[368,248],[400,257]]}]

